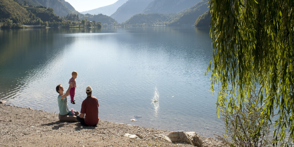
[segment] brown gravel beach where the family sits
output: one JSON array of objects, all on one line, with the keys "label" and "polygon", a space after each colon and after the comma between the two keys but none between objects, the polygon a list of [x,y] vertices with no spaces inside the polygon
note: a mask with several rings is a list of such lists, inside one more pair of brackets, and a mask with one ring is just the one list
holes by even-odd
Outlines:
[{"label": "brown gravel beach where the family sits", "polygon": [[[0,112],[0,146],[193,146],[157,138],[168,135],[167,130],[103,120],[97,127],[84,127],[78,122],[61,122],[56,113],[5,104],[0,104]],[[142,139],[125,137],[127,133]],[[225,146],[214,138],[200,139],[203,147]]]}]

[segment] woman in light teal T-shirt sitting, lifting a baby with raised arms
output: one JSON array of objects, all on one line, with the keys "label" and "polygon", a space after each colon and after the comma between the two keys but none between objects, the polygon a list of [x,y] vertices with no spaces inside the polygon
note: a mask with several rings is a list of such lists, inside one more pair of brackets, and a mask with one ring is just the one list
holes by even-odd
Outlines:
[{"label": "woman in light teal T-shirt sitting, lifting a baby with raised arms", "polygon": [[[59,115],[58,118],[60,121],[75,121],[77,122],[77,115],[79,114],[78,111],[71,112],[68,110],[67,106],[67,96],[69,96],[69,90],[72,86],[72,83],[69,84],[69,88],[63,94],[64,88],[61,86],[61,84],[56,86],[56,92],[59,93],[57,97],[58,101],[58,107],[59,107]],[[74,114],[74,115],[73,115]]]}]

